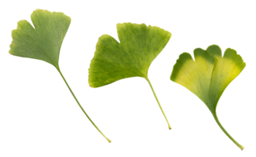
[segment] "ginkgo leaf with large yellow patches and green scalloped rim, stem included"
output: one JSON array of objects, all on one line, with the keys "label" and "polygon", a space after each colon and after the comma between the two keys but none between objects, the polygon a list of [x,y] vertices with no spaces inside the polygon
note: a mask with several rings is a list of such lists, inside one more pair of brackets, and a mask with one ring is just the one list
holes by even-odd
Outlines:
[{"label": "ginkgo leaf with large yellow patches and green scalloped rim, stem included", "polygon": [[218,119],[217,107],[221,96],[245,70],[247,62],[232,47],[222,55],[221,46],[212,43],[206,49],[196,47],[193,55],[181,52],[170,72],[170,82],[195,95],[210,111],[222,133],[243,152],[244,145],[236,141]]}]

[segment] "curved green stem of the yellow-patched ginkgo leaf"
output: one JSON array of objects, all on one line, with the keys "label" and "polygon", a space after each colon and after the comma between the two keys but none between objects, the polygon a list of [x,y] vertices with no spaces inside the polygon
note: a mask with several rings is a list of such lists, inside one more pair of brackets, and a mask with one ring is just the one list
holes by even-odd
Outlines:
[{"label": "curved green stem of the yellow-patched ginkgo leaf", "polygon": [[237,141],[236,138],[233,137],[231,133],[229,133],[229,131],[221,123],[221,120],[218,119],[218,115],[217,114],[215,114],[213,117],[214,117],[214,121],[216,122],[218,128],[225,135],[225,137],[227,137],[229,139],[229,141],[231,141],[232,144],[234,144],[236,146],[236,148],[238,148],[241,152],[243,152],[244,149],[245,149],[245,146],[243,144],[241,144],[239,141]]}]

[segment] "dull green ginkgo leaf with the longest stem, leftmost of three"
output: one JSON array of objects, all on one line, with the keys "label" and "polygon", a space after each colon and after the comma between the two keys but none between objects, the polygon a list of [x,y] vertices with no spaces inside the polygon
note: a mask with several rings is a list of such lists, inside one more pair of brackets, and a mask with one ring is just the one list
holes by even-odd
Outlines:
[{"label": "dull green ginkgo leaf with the longest stem, leftmost of three", "polygon": [[82,107],[82,104],[75,96],[74,91],[60,70],[60,49],[71,26],[71,16],[60,10],[50,11],[49,9],[36,8],[32,10],[30,17],[32,24],[27,19],[20,19],[17,20],[16,28],[11,30],[12,40],[9,43],[9,56],[24,60],[42,61],[55,68],[83,115],[86,116],[86,119],[88,119],[94,129],[100,133],[101,137],[108,144],[112,144],[112,139],[97,126]]}]

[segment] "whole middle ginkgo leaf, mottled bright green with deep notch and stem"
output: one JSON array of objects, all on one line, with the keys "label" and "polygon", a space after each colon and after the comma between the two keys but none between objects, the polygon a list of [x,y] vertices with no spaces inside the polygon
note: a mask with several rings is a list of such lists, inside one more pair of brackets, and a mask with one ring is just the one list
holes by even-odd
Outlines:
[{"label": "whole middle ginkgo leaf, mottled bright green with deep notch and stem", "polygon": [[118,38],[103,33],[97,39],[88,68],[88,86],[99,89],[125,79],[144,79],[152,90],[168,130],[172,130],[148,77],[149,68],[170,42],[171,31],[158,25],[131,21],[117,22],[115,27]]}]

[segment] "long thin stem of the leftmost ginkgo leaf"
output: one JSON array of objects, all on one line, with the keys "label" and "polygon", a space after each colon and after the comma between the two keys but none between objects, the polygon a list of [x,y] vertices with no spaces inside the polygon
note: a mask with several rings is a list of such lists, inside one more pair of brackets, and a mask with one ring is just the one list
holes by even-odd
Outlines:
[{"label": "long thin stem of the leftmost ginkgo leaf", "polygon": [[69,85],[67,79],[65,78],[63,72],[60,70],[60,66],[57,66],[56,70],[60,74],[60,78],[64,81],[64,84],[67,86],[69,93],[71,93],[71,96],[75,100],[75,103],[78,105],[79,109],[82,111],[82,114],[86,116],[86,119],[90,122],[90,124],[93,126],[95,130],[97,130],[98,133],[100,133],[101,137],[104,138],[105,141],[108,142],[108,144],[112,144],[112,139],[108,137],[99,126],[97,126],[96,122],[93,121],[93,119],[90,117],[88,112],[85,108],[83,108],[82,104],[80,103],[79,99],[75,96],[75,93],[71,86]]}]

